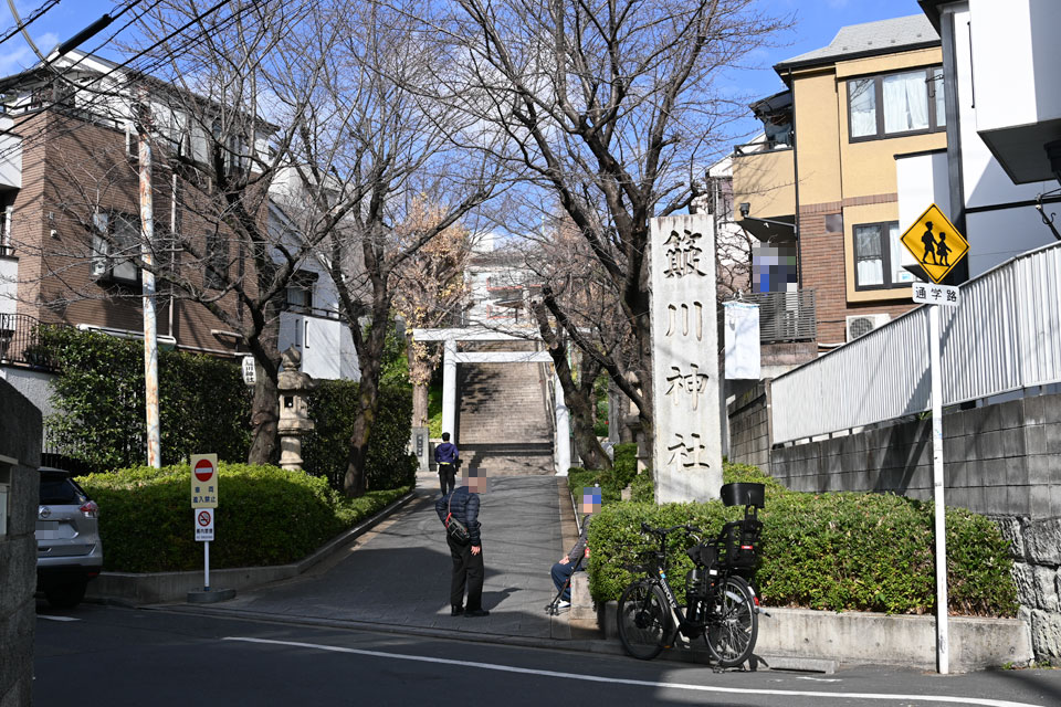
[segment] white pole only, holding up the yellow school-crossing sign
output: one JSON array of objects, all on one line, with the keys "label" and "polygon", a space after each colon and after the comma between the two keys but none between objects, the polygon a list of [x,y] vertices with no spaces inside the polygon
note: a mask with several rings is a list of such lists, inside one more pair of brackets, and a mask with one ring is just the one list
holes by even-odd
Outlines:
[{"label": "white pole only, holding up the yellow school-crossing sign", "polygon": [[947,632],[947,507],[943,497],[943,369],[939,366],[939,305],[928,305],[928,359],[932,371],[932,485],[936,534],[936,664],[949,673]]}]

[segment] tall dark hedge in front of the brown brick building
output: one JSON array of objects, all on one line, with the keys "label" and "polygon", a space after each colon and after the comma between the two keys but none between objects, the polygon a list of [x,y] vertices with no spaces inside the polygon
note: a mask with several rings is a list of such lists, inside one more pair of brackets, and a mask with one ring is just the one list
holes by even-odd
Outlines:
[{"label": "tall dark hedge in front of the brown brick building", "polygon": [[[146,458],[144,344],[98,333],[43,327],[41,348],[60,369],[53,382],[60,412],[48,425],[63,452],[93,468]],[[239,366],[208,356],[160,350],[162,463],[188,454],[246,458],[251,390]]]}]

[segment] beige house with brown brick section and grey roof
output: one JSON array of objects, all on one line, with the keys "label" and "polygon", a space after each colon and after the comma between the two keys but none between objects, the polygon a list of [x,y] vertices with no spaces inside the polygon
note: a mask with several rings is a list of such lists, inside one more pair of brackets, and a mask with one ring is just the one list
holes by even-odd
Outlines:
[{"label": "beige house with brown brick section and grey roof", "polygon": [[942,62],[924,15],[845,27],[777,64],[785,89],[752,106],[765,134],[736,148],[733,180],[761,242],[753,289],[812,292],[819,350],[913,306],[895,160],[946,150]]}]

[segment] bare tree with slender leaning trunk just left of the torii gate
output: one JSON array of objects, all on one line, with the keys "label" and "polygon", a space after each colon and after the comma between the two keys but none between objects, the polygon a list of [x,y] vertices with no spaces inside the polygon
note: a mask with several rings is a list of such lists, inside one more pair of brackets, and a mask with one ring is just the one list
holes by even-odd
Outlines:
[{"label": "bare tree with slender leaning trunk just left of the torii gate", "polygon": [[[307,20],[321,24],[317,33],[343,38],[327,56],[325,89],[301,117],[294,149],[314,212],[334,221],[322,255],[361,369],[344,479],[354,496],[366,488],[380,363],[402,270],[497,186],[482,154],[460,149],[470,143],[490,148],[492,137],[454,109],[454,96],[440,91],[439,72],[455,57],[435,41],[424,17],[430,11],[408,0],[387,6],[335,0],[317,6]],[[304,51],[316,48],[307,44]],[[419,199],[433,204],[431,219],[414,218]]]}]

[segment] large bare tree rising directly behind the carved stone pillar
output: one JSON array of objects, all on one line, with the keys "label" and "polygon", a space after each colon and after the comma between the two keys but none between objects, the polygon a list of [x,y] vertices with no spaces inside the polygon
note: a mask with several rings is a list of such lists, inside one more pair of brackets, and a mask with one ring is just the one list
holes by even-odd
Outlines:
[{"label": "large bare tree rising directly behind the carved stone pillar", "polygon": [[[517,149],[496,155],[547,190],[586,240],[634,342],[605,356],[556,321],[634,401],[651,440],[649,219],[684,210],[701,165],[743,112],[713,85],[779,27],[752,0],[460,0],[464,108]],[[482,96],[490,97],[484,102]]]}]

